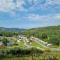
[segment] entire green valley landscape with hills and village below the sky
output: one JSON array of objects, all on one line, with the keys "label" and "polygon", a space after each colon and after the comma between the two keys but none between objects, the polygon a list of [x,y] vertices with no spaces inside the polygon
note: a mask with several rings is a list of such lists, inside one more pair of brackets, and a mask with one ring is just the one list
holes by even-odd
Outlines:
[{"label": "entire green valley landscape with hills and village below the sky", "polygon": [[60,26],[0,28],[1,60],[59,60]]}]

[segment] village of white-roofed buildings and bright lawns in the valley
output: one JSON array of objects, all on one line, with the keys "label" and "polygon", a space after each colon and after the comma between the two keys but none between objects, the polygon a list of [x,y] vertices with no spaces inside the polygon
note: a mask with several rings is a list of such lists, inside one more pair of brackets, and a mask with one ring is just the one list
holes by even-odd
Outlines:
[{"label": "village of white-roofed buildings and bright lawns in the valley", "polygon": [[[3,39],[3,37],[0,37],[0,39]],[[7,46],[7,47],[19,46],[20,48],[35,47],[41,49],[51,47],[52,44],[48,44],[47,42],[44,42],[41,39],[33,36],[27,38],[24,35],[18,35],[17,37],[5,37],[5,40],[3,41],[0,40],[0,47],[1,46]]]}]

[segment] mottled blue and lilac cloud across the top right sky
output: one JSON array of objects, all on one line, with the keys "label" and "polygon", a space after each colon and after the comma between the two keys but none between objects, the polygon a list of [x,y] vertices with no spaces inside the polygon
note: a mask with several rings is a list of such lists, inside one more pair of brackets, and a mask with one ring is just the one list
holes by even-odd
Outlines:
[{"label": "mottled blue and lilac cloud across the top right sky", "polygon": [[56,6],[60,6],[60,0],[33,0],[33,2],[30,1],[30,3],[32,3],[30,7],[31,9],[35,7],[40,9],[48,9],[48,8],[52,8],[52,7],[54,8]]}]

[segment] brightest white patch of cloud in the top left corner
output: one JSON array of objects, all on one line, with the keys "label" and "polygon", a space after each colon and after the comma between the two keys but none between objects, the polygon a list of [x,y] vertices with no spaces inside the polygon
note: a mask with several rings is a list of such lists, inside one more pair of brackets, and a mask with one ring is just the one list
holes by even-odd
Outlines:
[{"label": "brightest white patch of cloud in the top left corner", "polygon": [[0,11],[10,11],[15,9],[13,0],[0,0]]}]

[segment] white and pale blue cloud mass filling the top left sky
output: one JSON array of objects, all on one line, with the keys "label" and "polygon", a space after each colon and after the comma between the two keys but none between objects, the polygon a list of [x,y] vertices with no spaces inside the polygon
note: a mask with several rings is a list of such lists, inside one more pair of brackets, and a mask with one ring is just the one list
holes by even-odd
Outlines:
[{"label": "white and pale blue cloud mass filling the top left sky", "polygon": [[24,0],[0,0],[0,11],[24,10]]}]

